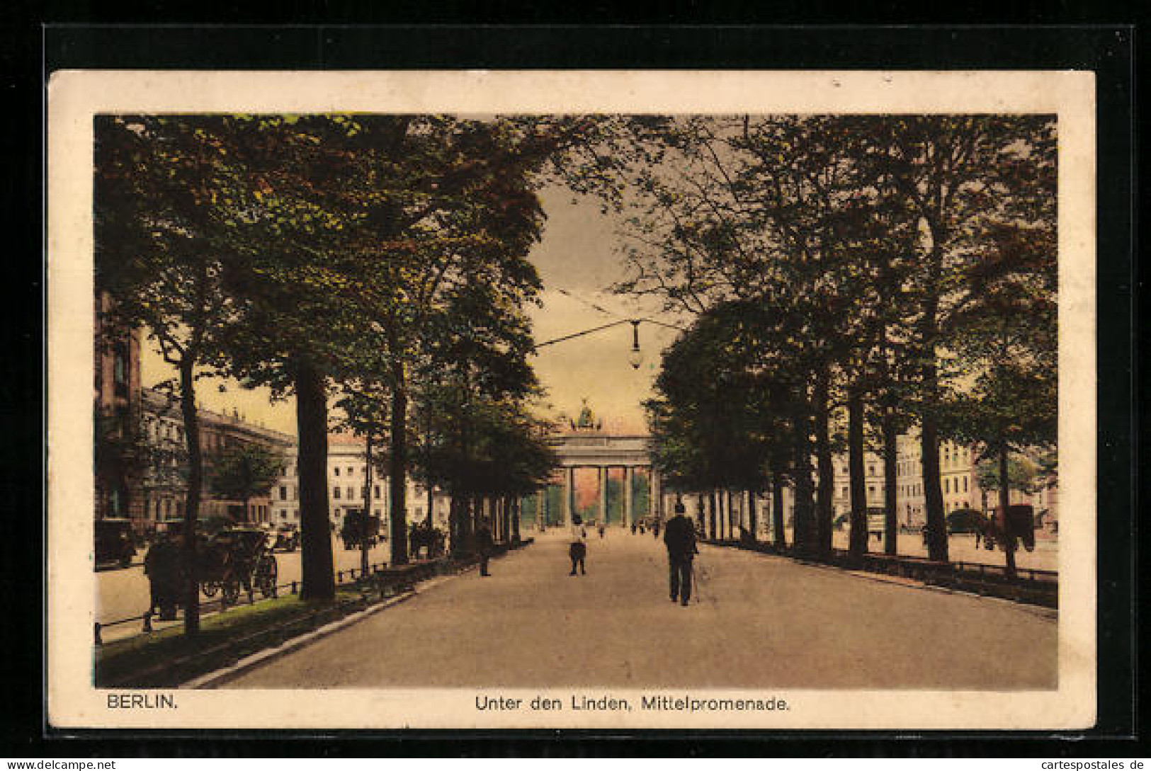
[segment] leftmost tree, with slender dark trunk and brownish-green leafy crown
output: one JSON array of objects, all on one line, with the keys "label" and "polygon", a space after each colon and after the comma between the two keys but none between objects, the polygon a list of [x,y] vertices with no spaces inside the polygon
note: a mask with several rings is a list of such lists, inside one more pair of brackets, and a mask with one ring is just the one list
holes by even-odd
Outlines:
[{"label": "leftmost tree, with slender dark trunk and brownish-green leafy crown", "polygon": [[[233,310],[222,290],[224,255],[205,234],[223,155],[206,133],[168,117],[97,116],[96,284],[113,298],[110,320],[143,327],[178,372],[188,446],[183,559],[196,562],[204,459],[196,406],[201,367],[219,364],[216,336]],[[199,631],[199,587],[184,587],[184,629]]]}]

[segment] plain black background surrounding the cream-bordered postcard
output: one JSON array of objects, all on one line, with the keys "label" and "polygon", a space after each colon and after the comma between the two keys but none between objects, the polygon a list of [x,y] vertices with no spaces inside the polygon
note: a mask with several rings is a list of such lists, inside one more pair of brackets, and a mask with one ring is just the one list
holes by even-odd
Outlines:
[{"label": "plain black background surrounding the cream-bordered postcard", "polygon": [[[800,3],[795,3],[796,7]],[[159,10],[166,9],[160,3]],[[233,8],[231,20],[244,10]],[[0,379],[0,414],[23,428],[24,443],[3,445],[7,468],[17,470],[3,490],[15,528],[3,537],[9,623],[0,624],[9,718],[0,727],[9,756],[1128,756],[1146,755],[1137,727],[1136,613],[1138,575],[1137,384],[1138,264],[1135,251],[1134,28],[1106,26],[810,26],[612,24],[491,25],[479,14],[437,7],[428,16],[464,17],[470,24],[326,25],[123,25],[93,23],[9,24],[10,45],[0,53],[26,67],[26,90],[8,115],[23,133],[21,153],[6,143],[16,174],[0,185],[10,235],[28,251],[5,261],[6,285],[21,295],[9,304],[9,351],[24,367]],[[584,9],[592,13],[595,9]],[[894,9],[891,9],[894,10]],[[784,7],[777,20],[795,16]],[[247,12],[251,14],[252,12]],[[298,21],[298,8],[281,9]],[[571,12],[570,12],[571,13]],[[890,12],[889,12],[890,13]],[[1008,12],[1009,13],[1009,12]],[[1019,13],[1017,10],[1015,13]],[[539,14],[539,12],[536,12]],[[75,17],[91,20],[92,9]],[[699,14],[702,15],[702,14]],[[1021,14],[1026,17],[1026,14]],[[410,18],[401,3],[392,18]],[[536,18],[539,15],[536,16]],[[617,14],[617,17],[620,17]],[[664,16],[666,17],[666,16]],[[1031,18],[1035,18],[1031,15]],[[1052,16],[1047,16],[1052,18]],[[55,20],[60,22],[61,20]],[[94,20],[93,20],[94,21]],[[576,21],[576,20],[572,20]],[[624,18],[623,21],[627,21]],[[712,13],[711,18],[722,21]],[[765,20],[770,21],[770,20]],[[894,20],[892,20],[894,21]],[[907,21],[907,20],[904,20]],[[1054,21],[1060,21],[1055,18]],[[15,71],[17,67],[5,67]],[[1098,104],[1098,591],[1099,719],[1082,734],[892,732],[69,732],[47,726],[44,682],[30,661],[43,662],[39,635],[43,596],[32,590],[44,573],[43,522],[45,373],[43,249],[46,212],[43,170],[47,78],[59,69],[1088,69],[1097,75]],[[13,85],[15,85],[15,76]],[[22,99],[23,97],[23,99]],[[23,131],[21,131],[23,129]],[[37,143],[33,137],[39,137]],[[22,188],[20,182],[26,182]],[[41,206],[32,193],[39,182]],[[40,244],[40,260],[36,260]],[[39,307],[36,307],[39,299]],[[37,312],[39,311],[39,312]],[[40,333],[37,337],[33,333]],[[39,375],[39,377],[37,377]],[[35,406],[33,406],[35,405]],[[35,409],[40,407],[39,410]],[[14,432],[15,434],[15,432]],[[41,453],[30,440],[41,437]],[[39,461],[39,463],[37,463]],[[37,495],[39,494],[39,495]],[[39,504],[39,505],[38,505]],[[29,548],[36,543],[39,548]],[[1143,646],[1145,648],[1145,646]],[[1134,742],[1134,743],[1133,743]],[[1139,747],[1143,748],[1139,751]]]}]

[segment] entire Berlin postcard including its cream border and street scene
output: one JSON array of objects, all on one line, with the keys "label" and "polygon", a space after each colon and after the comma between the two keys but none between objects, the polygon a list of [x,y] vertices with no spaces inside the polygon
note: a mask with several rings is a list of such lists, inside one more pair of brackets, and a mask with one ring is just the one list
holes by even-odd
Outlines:
[{"label": "entire Berlin postcard including its cream border and street scene", "polygon": [[1090,76],[585,75],[53,82],[54,724],[1092,724]]}]

